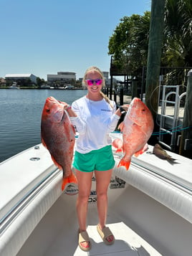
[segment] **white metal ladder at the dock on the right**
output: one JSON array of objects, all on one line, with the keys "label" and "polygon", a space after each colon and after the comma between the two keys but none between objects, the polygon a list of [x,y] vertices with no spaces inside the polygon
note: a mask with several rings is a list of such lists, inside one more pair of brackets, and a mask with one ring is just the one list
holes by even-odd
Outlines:
[{"label": "white metal ladder at the dock on the right", "polygon": [[[159,129],[158,141],[160,144],[162,144],[169,150],[174,151],[176,147],[176,141],[177,141],[176,131],[178,129],[180,103],[181,103],[181,99],[183,98],[184,95],[186,95],[186,93],[181,93],[181,95],[179,95],[179,87],[181,85],[162,85],[162,86],[163,86],[163,95],[161,100],[162,105],[161,105],[161,111],[160,111],[160,129]],[[175,100],[168,100],[168,97],[171,95],[175,95]],[[169,105],[173,105],[173,108],[171,108],[170,115],[166,114],[167,103]],[[168,129],[168,125],[166,125],[165,123],[165,120],[168,120],[168,119],[171,120],[171,129]],[[164,135],[167,135],[167,134],[171,135],[170,145],[163,142],[163,137]]]}]

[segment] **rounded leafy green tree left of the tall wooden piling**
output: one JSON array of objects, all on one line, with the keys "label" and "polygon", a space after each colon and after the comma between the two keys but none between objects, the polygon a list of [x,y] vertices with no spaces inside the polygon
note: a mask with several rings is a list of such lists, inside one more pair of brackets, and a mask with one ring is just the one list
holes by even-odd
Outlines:
[{"label": "rounded leafy green tree left of the tall wooden piling", "polygon": [[108,54],[114,56],[117,67],[132,77],[147,64],[149,25],[149,11],[144,16],[125,16],[110,37]]}]

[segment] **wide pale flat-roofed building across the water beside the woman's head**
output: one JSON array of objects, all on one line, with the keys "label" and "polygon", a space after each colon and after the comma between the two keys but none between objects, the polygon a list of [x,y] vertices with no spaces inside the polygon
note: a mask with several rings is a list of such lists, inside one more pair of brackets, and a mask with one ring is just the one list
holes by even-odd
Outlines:
[{"label": "wide pale flat-roofed building across the water beside the woman's head", "polygon": [[47,83],[53,85],[58,82],[59,85],[67,85],[68,83],[76,82],[75,72],[57,72],[57,75],[47,75]]}]

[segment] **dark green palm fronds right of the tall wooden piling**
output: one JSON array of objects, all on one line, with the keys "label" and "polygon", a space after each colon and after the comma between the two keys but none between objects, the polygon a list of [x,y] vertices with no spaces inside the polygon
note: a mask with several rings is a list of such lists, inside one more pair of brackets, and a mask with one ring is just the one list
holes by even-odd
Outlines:
[{"label": "dark green palm fronds right of the tall wooden piling", "polygon": [[192,1],[167,0],[163,64],[192,66]]}]

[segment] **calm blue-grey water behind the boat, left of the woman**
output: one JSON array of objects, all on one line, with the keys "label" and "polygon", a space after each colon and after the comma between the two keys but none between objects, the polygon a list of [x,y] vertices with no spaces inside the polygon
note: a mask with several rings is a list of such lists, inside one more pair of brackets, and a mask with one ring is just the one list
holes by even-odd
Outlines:
[{"label": "calm blue-grey water behind the boat, left of the woman", "polygon": [[0,162],[41,143],[42,109],[47,97],[71,104],[87,90],[0,90]]}]

